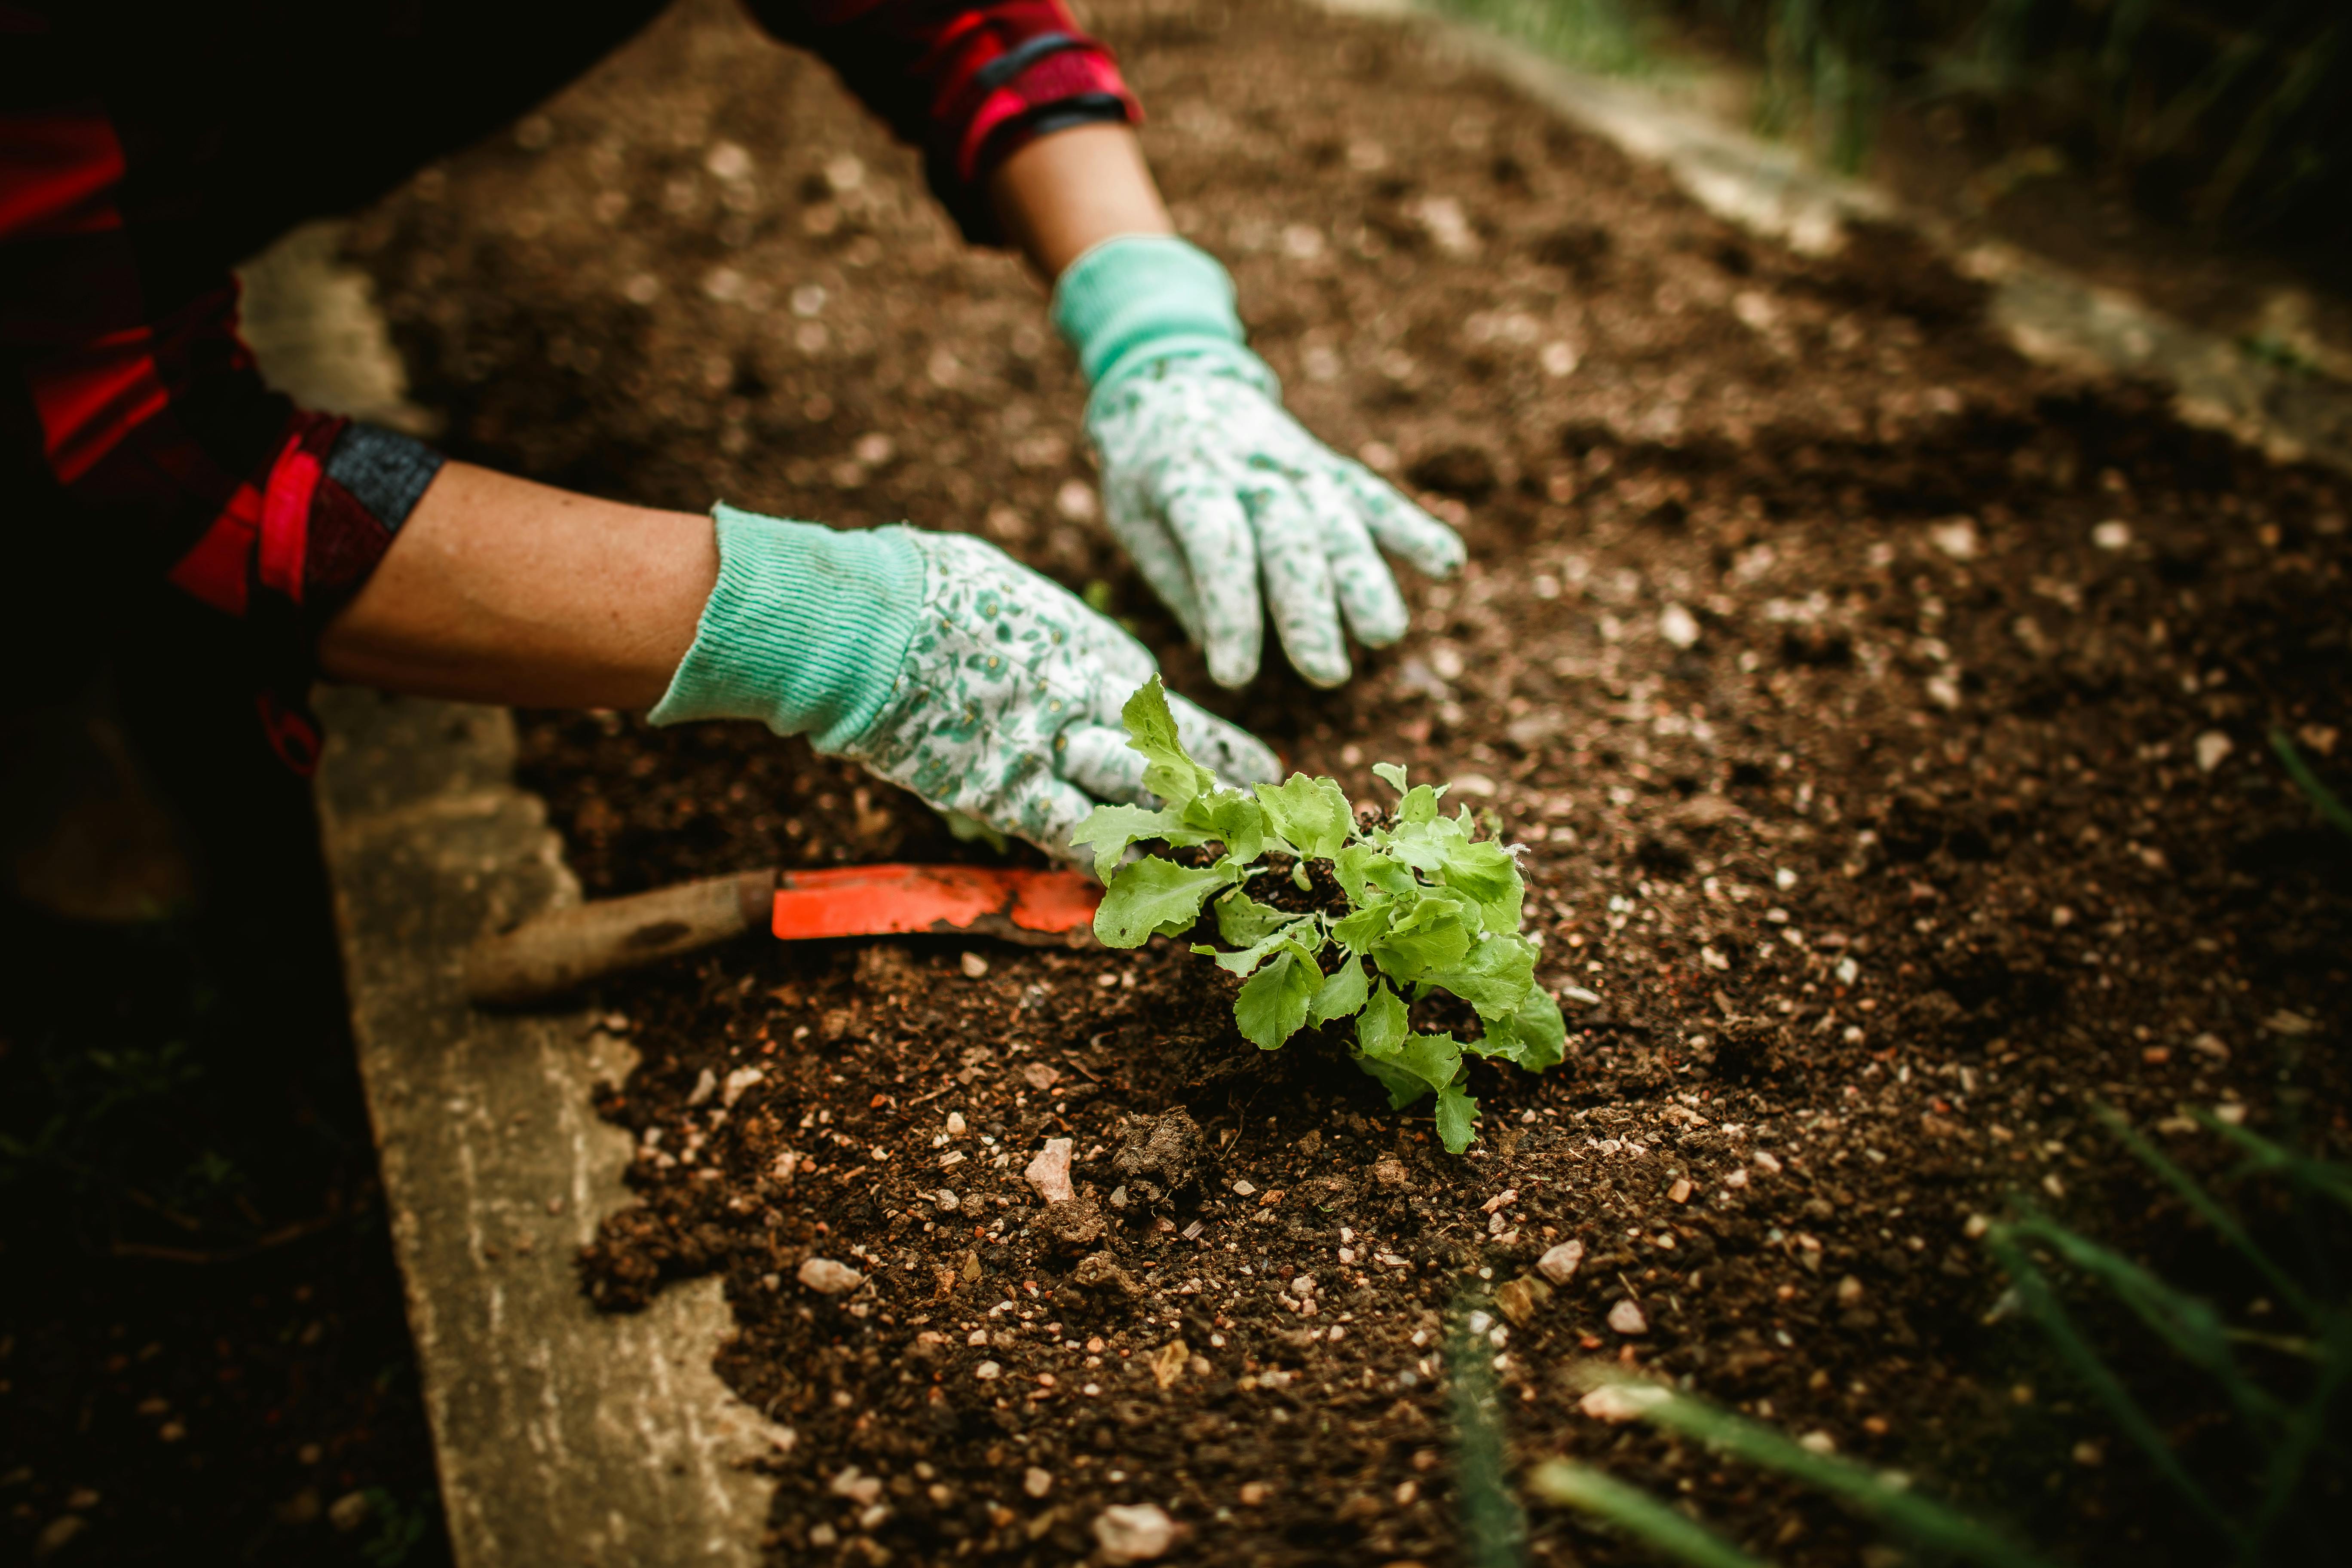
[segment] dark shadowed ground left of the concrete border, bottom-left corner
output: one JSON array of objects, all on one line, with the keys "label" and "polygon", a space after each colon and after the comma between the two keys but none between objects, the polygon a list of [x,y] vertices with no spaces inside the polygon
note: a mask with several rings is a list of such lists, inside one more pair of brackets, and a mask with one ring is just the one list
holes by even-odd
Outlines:
[{"label": "dark shadowed ground left of the concrete border, bottom-left corner", "polygon": [[0,903],[0,1556],[449,1563],[341,997],[200,926]]}]

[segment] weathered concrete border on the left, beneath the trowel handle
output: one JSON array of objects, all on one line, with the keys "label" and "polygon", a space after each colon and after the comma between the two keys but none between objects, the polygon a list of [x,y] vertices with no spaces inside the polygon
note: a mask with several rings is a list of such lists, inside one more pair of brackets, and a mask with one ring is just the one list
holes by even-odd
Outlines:
[{"label": "weathered concrete border on the left, beneath the trowel handle", "polygon": [[[405,407],[362,275],[334,233],[245,268],[266,374],[315,407]],[[461,1568],[750,1568],[793,1434],[720,1382],[717,1279],[635,1316],[590,1309],[574,1253],[630,1201],[630,1140],[593,1110],[635,1053],[586,1013],[487,1016],[461,954],[576,903],[503,708],[334,691],[318,799],[449,1537]]]}]

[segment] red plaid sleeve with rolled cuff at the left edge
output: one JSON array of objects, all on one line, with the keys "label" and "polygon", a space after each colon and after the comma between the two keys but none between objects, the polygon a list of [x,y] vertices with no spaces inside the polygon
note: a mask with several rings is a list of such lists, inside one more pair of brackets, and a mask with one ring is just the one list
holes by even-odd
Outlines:
[{"label": "red plaid sleeve with rolled cuff at the left edge", "polygon": [[14,75],[0,101],[5,489],[26,517],[101,541],[111,569],[242,621],[273,741],[308,766],[318,628],[437,458],[270,393],[238,339],[233,277],[160,261],[191,249],[174,242],[193,202],[169,158],[139,165],[103,101],[45,99],[38,80]]}]

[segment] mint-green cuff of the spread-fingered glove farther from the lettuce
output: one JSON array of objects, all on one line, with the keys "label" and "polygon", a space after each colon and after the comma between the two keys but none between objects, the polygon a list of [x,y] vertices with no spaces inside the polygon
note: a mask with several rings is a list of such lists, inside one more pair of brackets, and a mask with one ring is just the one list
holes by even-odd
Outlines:
[{"label": "mint-green cuff of the spread-fingered glove farther from the lettuce", "polygon": [[1242,346],[1232,277],[1176,235],[1120,235],[1065,266],[1054,284],[1054,327],[1094,393],[1171,355],[1216,360],[1275,393],[1275,374]]}]

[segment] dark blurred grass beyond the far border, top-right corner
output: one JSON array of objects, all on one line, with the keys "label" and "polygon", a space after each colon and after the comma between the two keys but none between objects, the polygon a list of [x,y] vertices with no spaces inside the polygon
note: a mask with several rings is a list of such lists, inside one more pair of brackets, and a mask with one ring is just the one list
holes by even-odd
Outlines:
[{"label": "dark blurred grass beyond the far border, top-right corner", "polygon": [[2345,233],[2343,0],[1435,0],[1590,71],[1653,71],[1677,33],[1764,71],[1762,127],[1860,167],[1893,103],[1959,106],[2218,233]]}]

